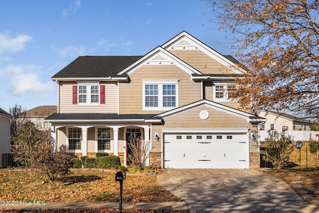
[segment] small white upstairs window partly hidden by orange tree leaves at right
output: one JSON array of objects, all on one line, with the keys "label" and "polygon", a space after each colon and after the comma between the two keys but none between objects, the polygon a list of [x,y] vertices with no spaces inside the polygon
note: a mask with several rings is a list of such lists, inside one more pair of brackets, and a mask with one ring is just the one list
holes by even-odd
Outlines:
[{"label": "small white upstairs window partly hidden by orange tree leaves at right", "polygon": [[214,87],[214,101],[231,101],[229,98],[233,97],[235,86],[229,83],[213,83]]}]

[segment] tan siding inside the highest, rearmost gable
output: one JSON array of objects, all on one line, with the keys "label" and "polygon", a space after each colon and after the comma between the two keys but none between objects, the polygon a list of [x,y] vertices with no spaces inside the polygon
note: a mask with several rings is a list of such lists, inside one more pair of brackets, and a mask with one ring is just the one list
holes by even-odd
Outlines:
[{"label": "tan siding inside the highest, rearmost gable", "polygon": [[168,50],[203,74],[234,73],[200,50]]}]

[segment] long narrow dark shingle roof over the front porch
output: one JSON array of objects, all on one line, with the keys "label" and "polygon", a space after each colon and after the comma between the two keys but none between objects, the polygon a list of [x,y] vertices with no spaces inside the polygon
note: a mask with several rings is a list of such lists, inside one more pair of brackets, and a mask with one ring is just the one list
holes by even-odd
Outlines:
[{"label": "long narrow dark shingle roof over the front porch", "polygon": [[121,119],[160,119],[153,114],[122,114],[116,113],[54,113],[45,120],[121,120]]}]

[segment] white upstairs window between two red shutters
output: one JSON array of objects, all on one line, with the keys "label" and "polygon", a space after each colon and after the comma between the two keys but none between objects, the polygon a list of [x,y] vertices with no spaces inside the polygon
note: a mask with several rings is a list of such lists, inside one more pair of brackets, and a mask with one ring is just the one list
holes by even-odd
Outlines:
[{"label": "white upstairs window between two red shutters", "polygon": [[99,104],[100,86],[98,83],[78,83],[79,104]]}]

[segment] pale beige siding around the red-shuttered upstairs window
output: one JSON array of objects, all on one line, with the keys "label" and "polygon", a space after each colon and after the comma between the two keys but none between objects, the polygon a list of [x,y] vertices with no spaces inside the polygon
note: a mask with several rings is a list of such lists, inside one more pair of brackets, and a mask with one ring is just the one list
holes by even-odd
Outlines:
[{"label": "pale beige siding around the red-shuttered upstairs window", "polygon": [[117,113],[118,112],[118,86],[117,82],[101,82],[105,85],[105,104],[78,105],[72,104],[72,86],[76,82],[60,82],[59,107],[60,113]]}]

